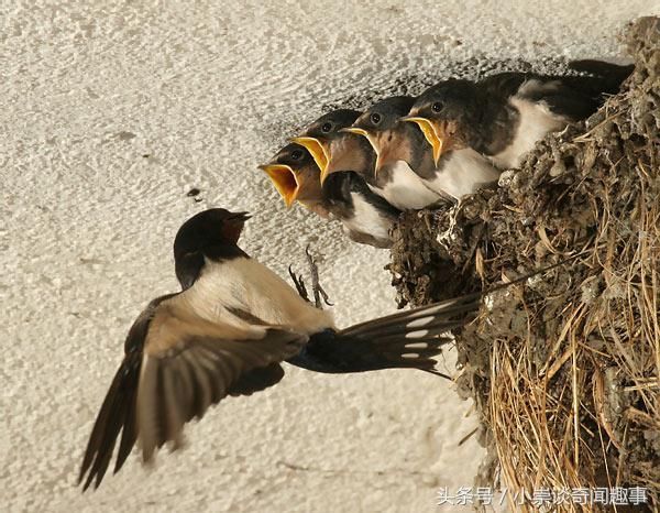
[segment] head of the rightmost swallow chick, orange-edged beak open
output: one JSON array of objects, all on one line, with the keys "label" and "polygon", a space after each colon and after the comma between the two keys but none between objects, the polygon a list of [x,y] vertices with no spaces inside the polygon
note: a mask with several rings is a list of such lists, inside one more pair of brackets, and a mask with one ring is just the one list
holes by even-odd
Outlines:
[{"label": "head of the rightmost swallow chick, orange-edged beak open", "polygon": [[438,165],[443,153],[465,146],[466,130],[476,125],[479,111],[473,83],[444,80],[424,91],[404,121],[419,127]]}]

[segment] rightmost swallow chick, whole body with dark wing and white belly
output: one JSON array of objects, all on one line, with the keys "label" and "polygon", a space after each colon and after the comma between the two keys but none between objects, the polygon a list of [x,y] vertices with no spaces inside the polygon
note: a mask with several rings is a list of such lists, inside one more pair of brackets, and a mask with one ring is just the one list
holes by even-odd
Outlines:
[{"label": "rightmost swallow chick, whole body with dark wing and white belly", "polygon": [[518,166],[549,132],[591,116],[603,95],[618,91],[630,66],[571,63],[590,76],[499,73],[479,81],[450,79],[422,92],[408,116],[436,159],[457,145],[487,155],[499,168]]}]

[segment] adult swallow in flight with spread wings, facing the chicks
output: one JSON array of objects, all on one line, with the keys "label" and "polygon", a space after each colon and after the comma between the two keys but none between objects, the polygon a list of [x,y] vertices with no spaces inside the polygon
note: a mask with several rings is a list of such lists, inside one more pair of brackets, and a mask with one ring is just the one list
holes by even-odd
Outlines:
[{"label": "adult swallow in flight with spread wings, facing the chicks", "polygon": [[[480,294],[339,330],[237,244],[245,212],[222,208],[187,220],[174,241],[182,291],[153,299],[130,328],[123,361],[94,425],[79,474],[99,485],[119,449],[117,472],[139,440],[143,461],[184,424],[227,395],[276,384],[283,361],[317,372],[433,369],[440,335],[475,313]],[[121,434],[121,439],[120,439]]]}]

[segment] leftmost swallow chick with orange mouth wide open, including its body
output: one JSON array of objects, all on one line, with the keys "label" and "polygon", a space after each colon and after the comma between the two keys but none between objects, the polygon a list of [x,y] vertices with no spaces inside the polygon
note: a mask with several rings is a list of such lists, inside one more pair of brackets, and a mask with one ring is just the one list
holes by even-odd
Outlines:
[{"label": "leftmost swallow chick with orange mouth wide open, including its body", "polygon": [[260,168],[268,174],[287,206],[297,199],[311,210],[329,212],[355,242],[376,248],[392,245],[389,229],[400,211],[372,193],[356,173],[332,173],[321,185],[312,155],[296,143],[284,146]]}]

